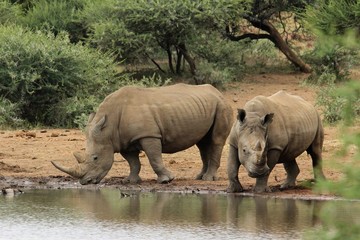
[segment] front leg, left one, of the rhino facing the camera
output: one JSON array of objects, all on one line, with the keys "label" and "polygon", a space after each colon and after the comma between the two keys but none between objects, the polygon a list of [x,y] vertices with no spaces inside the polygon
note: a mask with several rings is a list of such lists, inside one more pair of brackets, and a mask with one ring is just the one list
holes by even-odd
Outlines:
[{"label": "front leg, left one, of the rhino facing the camera", "polygon": [[243,187],[239,181],[239,168],[240,160],[238,155],[238,149],[230,145],[229,156],[227,161],[227,174],[229,178],[229,186],[227,188],[228,193],[242,192]]}]

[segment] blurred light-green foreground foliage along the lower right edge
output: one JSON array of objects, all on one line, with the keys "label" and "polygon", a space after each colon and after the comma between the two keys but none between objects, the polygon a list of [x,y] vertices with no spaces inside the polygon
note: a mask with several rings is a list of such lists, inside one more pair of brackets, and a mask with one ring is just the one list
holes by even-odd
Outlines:
[{"label": "blurred light-green foreground foliage along the lower right edge", "polygon": [[[316,189],[320,193],[333,193],[346,199],[360,198],[360,133],[352,128],[358,124],[360,115],[360,82],[350,81],[342,88],[334,89],[334,95],[343,99],[341,117],[344,124],[341,129],[341,140],[344,143],[333,162],[341,169],[343,177],[337,181],[320,181]],[[349,154],[349,149],[353,149]],[[347,163],[339,162],[339,157],[346,157]],[[335,160],[336,159],[336,160]],[[329,204],[320,212],[322,226],[306,234],[305,239],[359,239],[360,224],[356,218],[352,223],[344,223],[337,218],[342,209],[336,203]],[[356,211],[356,209],[355,209]]]}]

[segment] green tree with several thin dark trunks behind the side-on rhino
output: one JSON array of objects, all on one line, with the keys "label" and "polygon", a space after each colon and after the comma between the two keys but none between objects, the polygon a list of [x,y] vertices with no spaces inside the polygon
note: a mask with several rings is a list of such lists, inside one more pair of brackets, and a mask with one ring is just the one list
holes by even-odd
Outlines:
[{"label": "green tree with several thin dark trunks behind the side-on rhino", "polygon": [[[189,39],[198,33],[200,28],[219,26],[227,19],[241,16],[247,6],[247,0],[233,1],[124,1],[119,9],[126,27],[137,36],[150,35],[166,52],[169,69],[180,74],[182,60],[196,75],[196,63],[188,49]],[[175,53],[175,66],[173,54]],[[152,61],[156,64],[155,60]],[[164,71],[156,64],[161,71]]]}]

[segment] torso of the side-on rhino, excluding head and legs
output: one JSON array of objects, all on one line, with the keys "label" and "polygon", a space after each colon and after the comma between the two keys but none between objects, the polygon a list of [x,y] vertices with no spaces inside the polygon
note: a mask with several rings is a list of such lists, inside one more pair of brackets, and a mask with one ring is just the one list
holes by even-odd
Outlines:
[{"label": "torso of the side-on rhino, excluding head and legs", "polygon": [[231,108],[210,85],[177,84],[122,88],[105,99],[100,111],[109,115],[118,128],[122,147],[140,138],[154,137],[162,139],[163,152],[171,153],[199,142],[211,129],[216,115],[229,117]]}]

